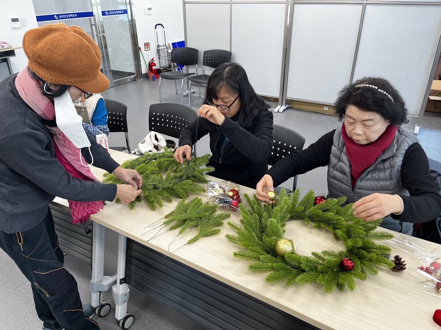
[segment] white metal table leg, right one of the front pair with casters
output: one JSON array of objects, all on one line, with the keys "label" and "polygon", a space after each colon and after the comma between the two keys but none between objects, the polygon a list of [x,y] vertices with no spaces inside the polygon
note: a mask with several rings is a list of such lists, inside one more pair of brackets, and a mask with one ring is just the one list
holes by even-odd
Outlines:
[{"label": "white metal table leg, right one of the front pair with casters", "polygon": [[119,321],[125,319],[127,316],[127,301],[130,296],[130,289],[126,283],[126,277],[125,277],[126,250],[127,250],[127,237],[120,234],[118,238],[118,270],[116,273],[117,275],[116,284],[112,286],[112,297],[115,300],[115,304],[116,304],[115,318]]}]

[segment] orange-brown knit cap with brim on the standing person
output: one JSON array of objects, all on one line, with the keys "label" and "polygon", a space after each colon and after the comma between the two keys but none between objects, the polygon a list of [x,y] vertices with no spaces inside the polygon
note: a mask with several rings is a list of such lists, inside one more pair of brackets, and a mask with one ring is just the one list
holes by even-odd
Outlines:
[{"label": "orange-brown knit cap with brim on the standing person", "polygon": [[100,71],[100,50],[78,26],[57,23],[30,29],[23,36],[23,50],[30,69],[48,83],[92,93],[108,88],[109,81]]}]

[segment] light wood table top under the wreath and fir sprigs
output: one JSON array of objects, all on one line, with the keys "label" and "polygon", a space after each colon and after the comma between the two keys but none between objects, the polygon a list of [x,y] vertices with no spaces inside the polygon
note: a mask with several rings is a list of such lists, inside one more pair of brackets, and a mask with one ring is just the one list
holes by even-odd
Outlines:
[{"label": "light wood table top under the wreath and fir sprigs", "polygon": [[[119,163],[135,157],[114,150],[110,150],[110,154]],[[102,178],[101,174],[104,171],[97,168],[93,168],[92,171],[98,179]],[[248,194],[255,192],[247,187],[241,188]],[[206,200],[205,194],[197,195]],[[151,229],[147,226],[172,211],[177,202],[178,200],[173,200],[172,203],[164,202],[164,207],[155,211],[149,209],[144,200],[137,203],[133,210],[122,203],[112,202],[99,213],[94,214],[92,220],[165,255],[170,253],[168,245],[176,237],[177,231],[167,231],[149,242],[147,240],[152,238],[159,228],[144,233]],[[53,203],[67,209],[67,201],[64,199],[55,198]],[[228,220],[239,223],[239,211],[228,208],[219,210],[231,213]],[[380,268],[376,276],[367,275],[365,281],[356,280],[357,288],[353,292],[348,289],[344,291],[335,289],[333,293],[326,294],[323,286],[315,282],[288,287],[284,282],[266,283],[265,273],[249,271],[249,262],[236,259],[232,255],[239,246],[233,245],[224,237],[225,234],[233,233],[226,224],[228,220],[224,221],[220,234],[200,238],[197,242],[169,254],[169,257],[321,329],[439,329],[432,316],[436,309],[441,309],[441,294],[438,295],[433,289],[424,289],[423,285],[418,283],[419,279],[426,280],[416,270],[419,266],[426,266],[426,260],[418,260],[414,255],[415,250],[403,243],[382,242],[392,247],[392,256],[399,254],[403,260],[406,260],[405,271],[395,272],[389,268]],[[344,249],[343,244],[335,241],[333,235],[325,229],[312,228],[311,225],[295,220],[288,221],[285,229],[285,237],[293,240],[299,253],[310,254],[311,251],[336,249],[334,245],[340,250]],[[387,231],[383,228],[380,230]],[[195,233],[195,228],[187,230],[175,239],[170,251],[182,246]],[[393,233],[398,241],[402,238],[408,239],[426,253],[435,250],[435,254],[441,254],[441,246],[438,244]]]}]

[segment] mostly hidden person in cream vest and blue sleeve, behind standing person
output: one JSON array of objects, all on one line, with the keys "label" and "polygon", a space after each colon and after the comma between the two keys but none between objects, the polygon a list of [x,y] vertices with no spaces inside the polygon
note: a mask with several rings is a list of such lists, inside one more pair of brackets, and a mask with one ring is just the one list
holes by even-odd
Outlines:
[{"label": "mostly hidden person in cream vest and blue sleeve, behind standing person", "polygon": [[81,96],[74,100],[75,109],[82,117],[82,125],[86,133],[97,136],[109,135],[107,127],[107,109],[100,93],[82,91]]}]

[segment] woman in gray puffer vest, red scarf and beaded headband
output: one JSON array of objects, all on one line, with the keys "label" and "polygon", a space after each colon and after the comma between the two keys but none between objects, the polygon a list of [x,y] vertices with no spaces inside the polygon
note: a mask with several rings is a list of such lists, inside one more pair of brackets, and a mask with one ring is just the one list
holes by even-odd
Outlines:
[{"label": "woman in gray puffer vest, red scarf and beaded headband", "polygon": [[407,108],[400,93],[382,78],[365,77],[345,86],[335,103],[341,128],[305,150],[278,161],[259,181],[258,198],[297,174],[328,166],[328,197],[355,202],[354,215],[383,218],[381,227],[411,235],[413,223],[436,219],[441,196],[430,176],[418,139],[401,128]]}]

